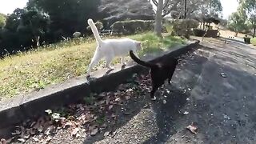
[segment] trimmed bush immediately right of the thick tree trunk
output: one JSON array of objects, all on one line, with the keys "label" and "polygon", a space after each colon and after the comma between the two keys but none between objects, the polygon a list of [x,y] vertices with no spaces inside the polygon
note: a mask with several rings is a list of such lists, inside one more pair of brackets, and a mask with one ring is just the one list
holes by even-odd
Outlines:
[{"label": "trimmed bush immediately right of the thick tree trunk", "polygon": [[189,38],[190,34],[192,34],[191,29],[199,26],[199,22],[194,19],[175,19],[166,22],[169,22],[173,26],[174,34],[185,36],[186,38]]}]

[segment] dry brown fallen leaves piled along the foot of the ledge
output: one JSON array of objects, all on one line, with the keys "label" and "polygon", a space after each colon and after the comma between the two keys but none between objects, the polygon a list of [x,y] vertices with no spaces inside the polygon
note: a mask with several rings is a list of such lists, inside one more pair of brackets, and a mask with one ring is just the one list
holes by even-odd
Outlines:
[{"label": "dry brown fallen leaves piled along the foot of the ledge", "polygon": [[13,138],[8,141],[49,143],[59,130],[67,130],[71,138],[86,138],[98,133],[103,133],[106,137],[112,132],[104,133],[104,130],[117,118],[114,110],[127,100],[148,93],[149,86],[150,75],[135,76],[134,81],[119,85],[116,92],[92,94],[84,98],[84,102],[59,110],[45,110],[41,117],[16,126]]}]

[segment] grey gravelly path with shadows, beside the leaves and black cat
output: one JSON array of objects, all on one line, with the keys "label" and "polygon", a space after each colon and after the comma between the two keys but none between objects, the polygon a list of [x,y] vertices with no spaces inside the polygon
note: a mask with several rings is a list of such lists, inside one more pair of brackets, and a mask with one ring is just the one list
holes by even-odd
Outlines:
[{"label": "grey gravelly path with shadows, beside the leaves and black cat", "polygon": [[[149,87],[115,107],[116,121],[96,136],[59,130],[50,143],[256,143],[256,49],[213,38],[200,44],[156,102]],[[196,134],[186,129],[192,123]]]}]

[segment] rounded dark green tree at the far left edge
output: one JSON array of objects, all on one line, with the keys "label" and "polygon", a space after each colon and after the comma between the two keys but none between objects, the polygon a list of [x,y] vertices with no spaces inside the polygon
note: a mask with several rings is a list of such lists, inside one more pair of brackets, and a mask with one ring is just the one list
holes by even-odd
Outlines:
[{"label": "rounded dark green tree at the far left edge", "polygon": [[38,10],[14,10],[7,17],[4,30],[0,32],[0,52],[12,53],[17,50],[15,48],[23,50],[25,47],[36,46],[38,36],[46,34],[49,22],[49,18]]}]

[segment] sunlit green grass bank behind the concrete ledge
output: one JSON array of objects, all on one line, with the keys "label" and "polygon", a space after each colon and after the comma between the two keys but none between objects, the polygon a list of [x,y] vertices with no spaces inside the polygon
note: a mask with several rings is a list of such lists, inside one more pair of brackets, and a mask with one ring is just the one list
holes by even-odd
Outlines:
[{"label": "sunlit green grass bank behind the concrete ledge", "polygon": [[[152,33],[130,35],[128,38],[142,42],[142,54],[166,50],[184,42],[178,37],[158,38]],[[95,47],[94,38],[83,38],[6,56],[0,60],[0,99],[86,74]],[[113,63],[118,62],[116,58]],[[102,64],[100,62],[98,66]]]}]

